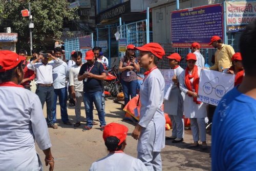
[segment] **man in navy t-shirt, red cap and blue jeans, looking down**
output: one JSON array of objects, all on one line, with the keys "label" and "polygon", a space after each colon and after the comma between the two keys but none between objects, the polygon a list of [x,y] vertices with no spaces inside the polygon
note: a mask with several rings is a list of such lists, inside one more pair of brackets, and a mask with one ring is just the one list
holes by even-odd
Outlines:
[{"label": "man in navy t-shirt, red cap and blue jeans, looking down", "polygon": [[83,131],[90,130],[93,126],[93,103],[98,111],[100,129],[106,125],[105,113],[102,106],[102,80],[106,78],[104,67],[95,61],[92,50],[86,52],[87,63],[81,66],[78,81],[83,81],[83,103],[86,107],[87,125]]}]

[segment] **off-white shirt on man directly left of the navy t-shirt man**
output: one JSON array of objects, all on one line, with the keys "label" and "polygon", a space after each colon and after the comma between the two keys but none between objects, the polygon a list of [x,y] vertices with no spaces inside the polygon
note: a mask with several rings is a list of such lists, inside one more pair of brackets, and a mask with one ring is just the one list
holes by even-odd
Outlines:
[{"label": "off-white shirt on man directly left of the navy t-shirt man", "polygon": [[78,81],[81,66],[74,65],[69,71],[69,86],[74,86],[75,91],[83,91],[83,82]]}]

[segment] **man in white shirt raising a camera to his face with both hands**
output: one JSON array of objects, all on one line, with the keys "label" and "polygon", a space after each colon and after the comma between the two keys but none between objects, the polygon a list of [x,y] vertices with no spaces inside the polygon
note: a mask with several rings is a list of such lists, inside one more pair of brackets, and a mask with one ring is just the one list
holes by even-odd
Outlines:
[{"label": "man in white shirt raising a camera to his face with both hands", "polygon": [[[52,63],[48,63],[49,57],[53,59]],[[40,62],[41,61],[41,62]],[[38,62],[38,63],[37,63]],[[36,83],[37,88],[35,93],[40,99],[42,108],[46,102],[47,107],[47,125],[51,128],[58,128],[57,125],[53,122],[52,115],[52,104],[54,96],[54,87],[53,87],[53,78],[52,70],[57,66],[61,65],[63,61],[55,58],[50,53],[47,53],[45,50],[39,52],[39,56],[32,63],[28,64],[28,69],[36,71]]]}]

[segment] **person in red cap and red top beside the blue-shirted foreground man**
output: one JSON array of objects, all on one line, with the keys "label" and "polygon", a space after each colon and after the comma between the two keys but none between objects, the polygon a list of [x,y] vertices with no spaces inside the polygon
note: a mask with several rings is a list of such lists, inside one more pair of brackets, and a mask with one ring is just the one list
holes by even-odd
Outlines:
[{"label": "person in red cap and red top beside the blue-shirted foreground man", "polygon": [[242,83],[244,78],[244,68],[241,53],[234,53],[231,61],[232,66],[228,69],[228,73],[236,74],[236,77],[234,78],[234,86],[237,86]]}]

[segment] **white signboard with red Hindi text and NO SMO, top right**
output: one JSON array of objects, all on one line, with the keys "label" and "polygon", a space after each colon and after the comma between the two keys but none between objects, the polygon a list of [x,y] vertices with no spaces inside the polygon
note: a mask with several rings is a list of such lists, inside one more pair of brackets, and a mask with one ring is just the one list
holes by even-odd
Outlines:
[{"label": "white signboard with red Hindi text and NO SMO, top right", "polygon": [[247,24],[256,20],[256,2],[226,1],[227,32],[243,31]]}]

